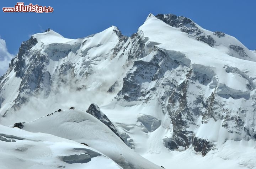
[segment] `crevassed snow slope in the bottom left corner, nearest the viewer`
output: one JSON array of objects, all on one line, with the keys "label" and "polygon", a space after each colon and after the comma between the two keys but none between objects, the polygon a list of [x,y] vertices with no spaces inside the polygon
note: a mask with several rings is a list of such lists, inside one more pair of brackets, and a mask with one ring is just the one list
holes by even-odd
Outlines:
[{"label": "crevassed snow slope in the bottom left corner, nearest the viewer", "polygon": [[121,167],[95,149],[65,138],[0,125],[1,168]]}]

